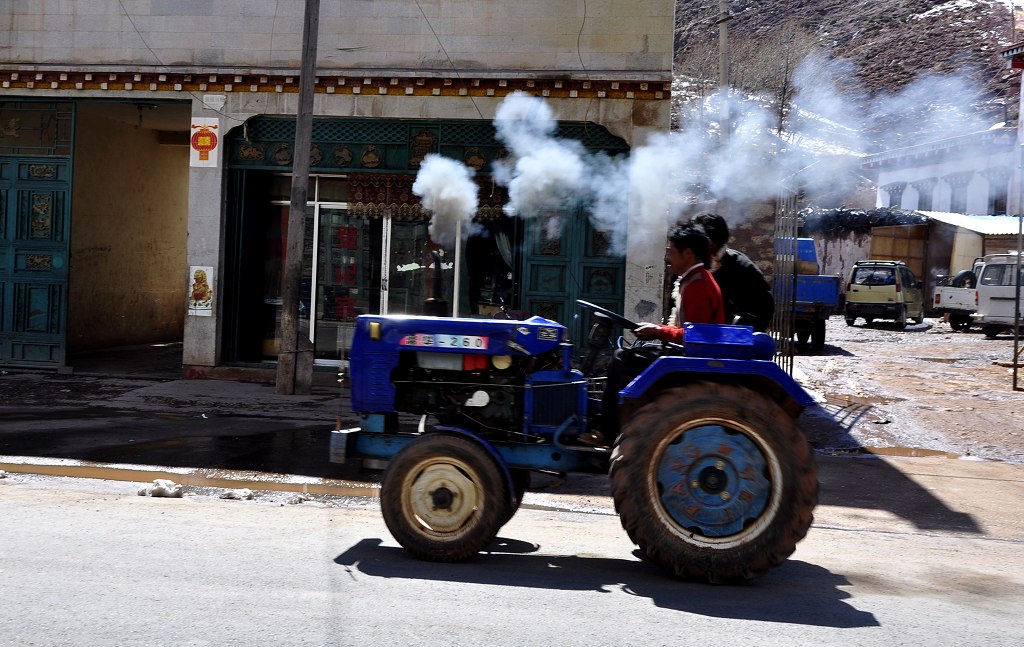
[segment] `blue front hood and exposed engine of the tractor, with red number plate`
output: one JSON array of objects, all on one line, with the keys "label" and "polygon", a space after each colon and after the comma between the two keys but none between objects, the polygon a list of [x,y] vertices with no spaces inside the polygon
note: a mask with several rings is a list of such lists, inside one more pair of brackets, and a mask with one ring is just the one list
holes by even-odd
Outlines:
[{"label": "blue front hood and exposed engine of the tractor, with red number plate", "polygon": [[586,409],[568,364],[565,328],[525,320],[357,317],[350,353],[352,408],[367,427],[427,415],[481,436],[552,433]]}]

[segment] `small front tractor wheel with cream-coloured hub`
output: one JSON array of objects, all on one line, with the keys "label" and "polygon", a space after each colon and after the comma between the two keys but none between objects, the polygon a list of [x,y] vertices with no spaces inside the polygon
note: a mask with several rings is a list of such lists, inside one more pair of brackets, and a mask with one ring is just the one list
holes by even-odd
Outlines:
[{"label": "small front tractor wheel with cream-coloured hub", "polygon": [[381,511],[392,536],[419,559],[465,561],[483,550],[514,513],[495,459],[478,443],[430,433],[391,459]]}]

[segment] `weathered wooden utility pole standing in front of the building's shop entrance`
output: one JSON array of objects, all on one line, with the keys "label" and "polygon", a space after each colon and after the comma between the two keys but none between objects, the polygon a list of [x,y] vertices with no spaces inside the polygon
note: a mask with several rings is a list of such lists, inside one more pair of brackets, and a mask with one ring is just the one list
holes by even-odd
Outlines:
[{"label": "weathered wooden utility pole standing in front of the building's shop entrance", "polygon": [[[309,183],[309,149],[313,136],[313,82],[316,74],[316,32],[319,0],[306,0],[302,28],[302,59],[299,64],[299,105],[295,117],[295,147],[292,155],[292,202],[288,209],[287,245],[283,271],[281,350],[278,354],[279,395],[308,394],[313,379],[312,342],[299,331],[299,282],[302,278],[302,247],[305,238],[306,186]],[[310,309],[312,301],[310,300]],[[309,312],[310,328],[316,313]]]}]

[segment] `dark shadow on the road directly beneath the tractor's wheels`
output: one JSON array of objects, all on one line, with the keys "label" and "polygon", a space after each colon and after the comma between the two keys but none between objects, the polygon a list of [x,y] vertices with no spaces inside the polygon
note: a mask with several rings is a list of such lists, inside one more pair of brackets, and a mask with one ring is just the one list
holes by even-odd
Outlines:
[{"label": "dark shadow on the road directly beneath the tractor's wheels", "polygon": [[674,578],[638,559],[538,555],[539,550],[536,544],[498,537],[472,561],[441,564],[417,560],[400,548],[383,546],[380,538],[366,538],[334,561],[373,577],[601,594],[617,590],[660,608],[708,617],[839,629],[880,626],[873,614],[845,602],[851,597],[841,590],[851,584],[846,577],[799,560],[750,583],[711,586]]}]

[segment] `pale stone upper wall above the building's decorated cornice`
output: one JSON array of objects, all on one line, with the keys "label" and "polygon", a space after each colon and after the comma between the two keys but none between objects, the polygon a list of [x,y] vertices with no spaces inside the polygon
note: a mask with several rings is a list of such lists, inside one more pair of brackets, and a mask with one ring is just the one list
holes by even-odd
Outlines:
[{"label": "pale stone upper wall above the building's decorated cornice", "polygon": [[[0,63],[297,70],[304,5],[16,2],[0,9],[0,27],[6,27]],[[509,70],[595,78],[631,73],[664,80],[672,70],[674,12],[673,0],[330,0],[321,3],[317,69],[432,70],[455,77]]]}]

